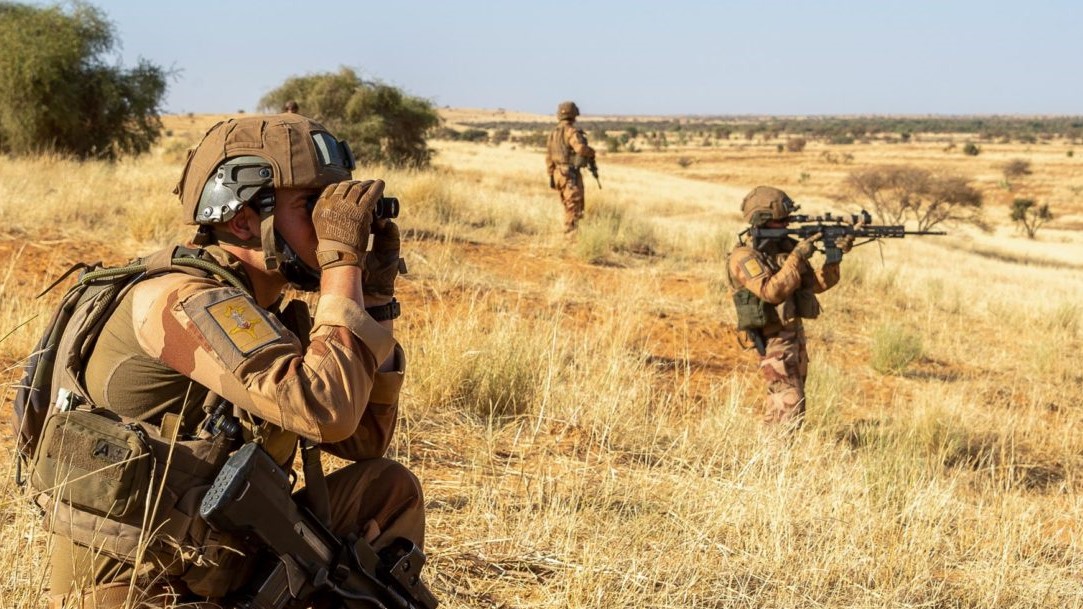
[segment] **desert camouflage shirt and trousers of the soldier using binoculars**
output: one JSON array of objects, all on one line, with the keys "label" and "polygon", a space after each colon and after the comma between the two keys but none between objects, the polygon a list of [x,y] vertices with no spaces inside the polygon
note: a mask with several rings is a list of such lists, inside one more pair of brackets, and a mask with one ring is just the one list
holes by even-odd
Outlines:
[{"label": "desert camouflage shirt and trousers of the soldier using binoculars", "polygon": [[[235,131],[251,142],[246,128],[258,127],[257,119],[246,120]],[[271,137],[269,146],[275,145]],[[303,156],[297,152],[303,140],[288,145],[295,157]],[[230,251],[218,245],[203,251],[252,287],[246,268]],[[170,426],[185,435],[198,428],[208,396],[218,396],[233,405],[245,440],[261,441],[287,470],[302,438],[353,462],[326,477],[326,524],[334,533],[364,536],[377,550],[396,537],[422,546],[420,484],[405,467],[383,458],[405,370],[391,331],[363,303],[335,294],[319,297],[314,320],[303,307],[300,312],[296,306],[271,309],[214,275],[178,270],[145,278],[121,298],[103,326],[82,371],[88,397],[97,407],[156,426],[167,436]],[[303,501],[304,492],[299,495]],[[56,507],[64,509],[60,502]],[[208,574],[197,573],[206,578],[200,583],[193,568],[182,566],[190,560],[178,547],[172,561],[156,556],[136,568],[54,534],[52,607],[119,608],[132,581],[146,595],[164,595],[152,600],[154,607],[169,599],[205,600],[218,595],[200,586],[225,586],[225,594],[246,583],[253,568],[245,556],[223,552],[221,562],[203,566]]]}]

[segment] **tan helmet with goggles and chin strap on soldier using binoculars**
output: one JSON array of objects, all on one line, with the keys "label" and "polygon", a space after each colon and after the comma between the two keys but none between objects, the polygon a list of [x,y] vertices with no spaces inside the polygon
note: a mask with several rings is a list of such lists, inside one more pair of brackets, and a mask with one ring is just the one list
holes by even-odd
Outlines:
[{"label": "tan helmet with goggles and chin strap on soldier using binoculars", "polygon": [[231,118],[211,127],[190,152],[173,193],[180,196],[184,221],[199,225],[197,245],[222,237],[224,232],[213,226],[251,207],[260,216],[259,245],[266,268],[278,269],[295,287],[315,289],[319,271],[304,264],[274,231],[274,192],[318,193],[349,180],[354,167],[350,146],[311,118],[299,114]]}]

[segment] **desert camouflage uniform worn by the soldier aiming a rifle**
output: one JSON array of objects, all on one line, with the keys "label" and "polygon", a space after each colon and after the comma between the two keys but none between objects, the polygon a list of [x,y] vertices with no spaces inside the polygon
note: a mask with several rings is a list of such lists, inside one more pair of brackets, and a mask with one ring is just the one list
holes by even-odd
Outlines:
[{"label": "desert camouflage uniform worn by the soldier aiming a rifle", "polygon": [[765,420],[793,426],[799,425],[805,414],[809,366],[801,320],[819,316],[820,303],[814,295],[832,288],[839,280],[837,263],[815,270],[807,259],[794,254],[796,245],[791,238],[765,242],[758,247],[741,244],[727,257],[731,287],[747,289],[766,308],[767,323],[760,329],[766,353],[759,362],[768,391]]}]

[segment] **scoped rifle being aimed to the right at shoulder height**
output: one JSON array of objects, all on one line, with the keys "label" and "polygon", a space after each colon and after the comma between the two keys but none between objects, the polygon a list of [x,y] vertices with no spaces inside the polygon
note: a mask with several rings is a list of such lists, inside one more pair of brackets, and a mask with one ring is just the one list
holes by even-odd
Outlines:
[{"label": "scoped rifle being aimed to the right at shoulder height", "polygon": [[786,219],[787,224],[796,226],[768,228],[751,226],[739,235],[751,235],[755,243],[761,239],[783,238],[787,236],[804,239],[820,233],[818,243],[822,244],[821,251],[827,257],[827,262],[839,262],[843,260],[843,250],[838,247],[838,239],[845,236],[864,238],[854,246],[880,238],[902,238],[906,235],[947,235],[944,231],[908,231],[902,224],[873,224],[873,217],[865,211],[854,213],[850,217],[833,216],[827,212],[823,216],[791,216]]}]

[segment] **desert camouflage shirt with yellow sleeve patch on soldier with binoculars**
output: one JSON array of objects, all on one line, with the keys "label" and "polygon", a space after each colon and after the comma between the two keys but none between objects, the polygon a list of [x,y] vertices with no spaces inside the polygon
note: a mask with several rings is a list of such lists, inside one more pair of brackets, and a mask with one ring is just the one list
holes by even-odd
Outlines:
[{"label": "desert camouflage shirt with yellow sleeve patch on soldier with binoculars", "polygon": [[[244,276],[227,252],[208,251]],[[392,353],[395,372],[377,373]],[[404,366],[391,333],[352,300],[321,297],[302,341],[246,291],[175,272],[144,280],[126,295],[84,379],[95,405],[140,420],[198,413],[209,390],[329,452],[367,458],[390,442]]]}]

